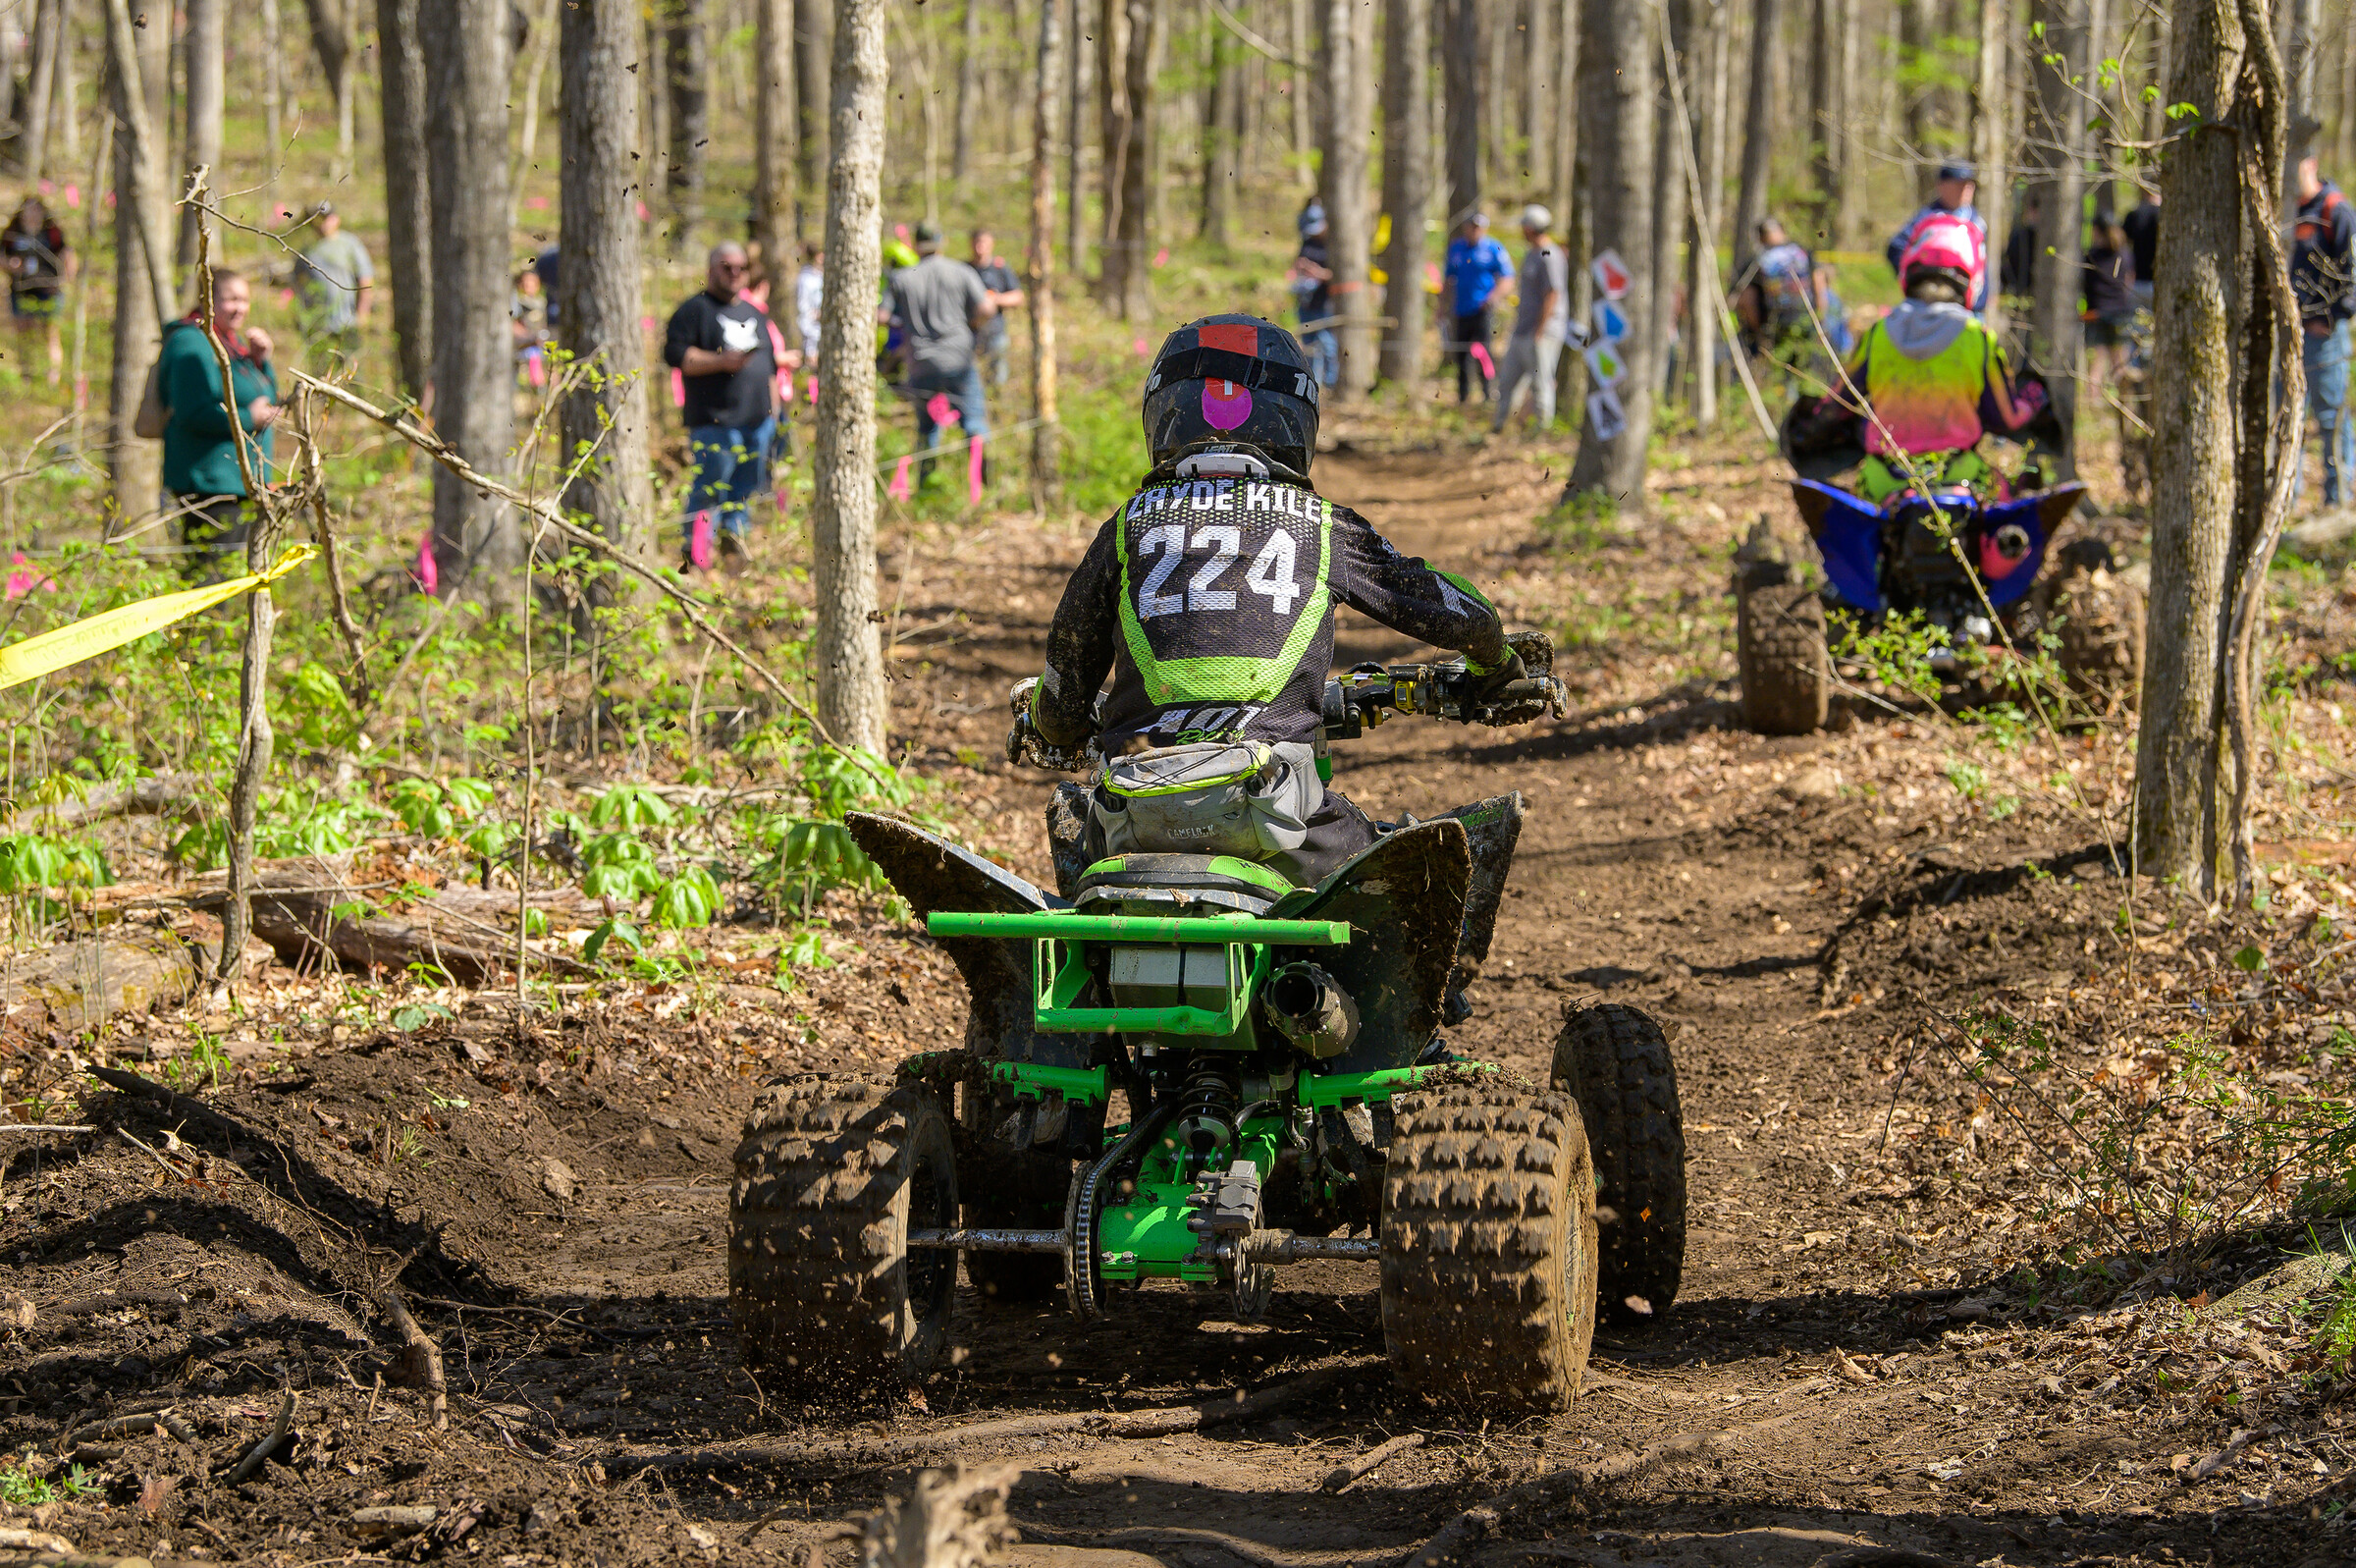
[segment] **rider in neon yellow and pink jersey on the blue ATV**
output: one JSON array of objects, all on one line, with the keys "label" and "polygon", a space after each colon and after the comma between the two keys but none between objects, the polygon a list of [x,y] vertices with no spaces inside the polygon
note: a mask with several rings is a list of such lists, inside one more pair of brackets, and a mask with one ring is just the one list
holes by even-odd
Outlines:
[{"label": "rider in neon yellow and pink jersey on the blue ATV", "polygon": [[2005,349],[1965,309],[1974,259],[1958,229],[1960,222],[1920,226],[1899,262],[1906,299],[1873,323],[1847,363],[1840,401],[1866,415],[1868,455],[1857,490],[1873,505],[1918,474],[1981,500],[2003,498],[2007,486],[1979,455],[1979,439],[2014,434],[2045,406],[2045,387],[2014,389]]}]

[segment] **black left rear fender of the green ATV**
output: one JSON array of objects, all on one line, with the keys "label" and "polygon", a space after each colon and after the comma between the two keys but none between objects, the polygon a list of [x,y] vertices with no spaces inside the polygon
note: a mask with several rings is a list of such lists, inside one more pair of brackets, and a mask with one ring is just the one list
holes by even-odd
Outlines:
[{"label": "black left rear fender of the green ATV", "polygon": [[[933,910],[1025,915],[1072,908],[968,849],[938,839],[891,816],[853,811],[843,818],[853,842],[891,877],[924,920]],[[966,1049],[982,1061],[1030,1061],[1053,1068],[1086,1066],[1088,1035],[1041,1035],[1032,1028],[1032,948],[992,936],[935,936],[973,993]]]}]

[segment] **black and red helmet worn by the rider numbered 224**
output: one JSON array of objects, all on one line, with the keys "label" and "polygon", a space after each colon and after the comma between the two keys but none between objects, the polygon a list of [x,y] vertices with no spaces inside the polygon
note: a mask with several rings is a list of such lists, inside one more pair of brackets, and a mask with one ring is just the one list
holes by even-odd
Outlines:
[{"label": "black and red helmet worn by the rider numbered 224", "polygon": [[1204,316],[1166,340],[1145,377],[1154,467],[1190,453],[1249,450],[1308,479],[1317,455],[1317,377],[1301,340],[1258,316]]}]

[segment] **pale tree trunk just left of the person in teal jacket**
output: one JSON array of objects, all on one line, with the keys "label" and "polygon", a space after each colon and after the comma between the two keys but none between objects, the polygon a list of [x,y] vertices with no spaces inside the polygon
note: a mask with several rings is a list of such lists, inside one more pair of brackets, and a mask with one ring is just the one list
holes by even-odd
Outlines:
[{"label": "pale tree trunk just left of the person in teal jacket", "polygon": [[[132,434],[146,375],[172,304],[172,205],[163,125],[170,113],[172,33],[132,28],[125,0],[106,0],[106,61],[115,104],[115,354],[108,448],[118,523],[155,512],[163,450]],[[68,106],[71,113],[71,106]]]}]

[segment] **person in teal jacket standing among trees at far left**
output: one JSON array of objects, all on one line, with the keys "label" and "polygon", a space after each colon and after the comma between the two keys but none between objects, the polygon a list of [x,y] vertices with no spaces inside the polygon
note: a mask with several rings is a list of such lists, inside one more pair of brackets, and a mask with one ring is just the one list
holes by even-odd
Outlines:
[{"label": "person in teal jacket standing among trees at far left", "polygon": [[238,469],[236,434],[247,439],[247,462],[257,483],[269,483],[271,424],[278,420],[278,370],[271,337],[247,328],[252,288],[233,271],[212,274],[212,323],[229,349],[229,380],[238,417],[221,401],[221,365],[205,342],[205,323],[191,311],[163,332],[155,361],[155,396],[167,415],[163,427],[163,488],[177,500],[186,571],[219,578],[224,564],[245,554],[252,500]]}]

